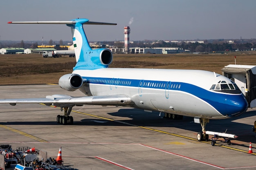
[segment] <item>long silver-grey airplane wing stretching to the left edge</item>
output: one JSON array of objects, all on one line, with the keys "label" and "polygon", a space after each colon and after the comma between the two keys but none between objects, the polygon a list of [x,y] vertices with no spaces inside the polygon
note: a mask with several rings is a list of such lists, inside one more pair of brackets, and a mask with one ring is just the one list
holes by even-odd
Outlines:
[{"label": "long silver-grey airplane wing stretching to the left edge", "polygon": [[102,105],[102,106],[127,106],[131,104],[131,99],[127,95],[105,95],[105,96],[85,96],[72,97],[69,95],[51,95],[46,98],[27,98],[27,99],[0,99],[1,103],[9,103],[12,106],[25,103],[43,103],[59,107],[70,107],[74,105]]}]

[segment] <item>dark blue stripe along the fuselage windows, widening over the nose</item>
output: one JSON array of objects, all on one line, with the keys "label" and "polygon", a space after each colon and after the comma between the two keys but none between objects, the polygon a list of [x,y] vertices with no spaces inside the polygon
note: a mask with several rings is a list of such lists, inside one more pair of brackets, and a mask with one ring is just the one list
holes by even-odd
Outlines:
[{"label": "dark blue stripe along the fuselage windows, widening over the nose", "polygon": [[[247,110],[247,102],[243,94],[220,93],[216,91],[208,91],[193,84],[183,82],[171,82],[166,87],[166,81],[138,80],[138,79],[119,79],[119,78],[101,78],[101,77],[83,77],[90,84],[106,84],[112,85],[112,88],[118,86],[154,88],[172,91],[182,91],[194,95],[211,106],[218,112],[227,117],[234,117],[242,114]],[[143,90],[142,90],[143,93]]]}]

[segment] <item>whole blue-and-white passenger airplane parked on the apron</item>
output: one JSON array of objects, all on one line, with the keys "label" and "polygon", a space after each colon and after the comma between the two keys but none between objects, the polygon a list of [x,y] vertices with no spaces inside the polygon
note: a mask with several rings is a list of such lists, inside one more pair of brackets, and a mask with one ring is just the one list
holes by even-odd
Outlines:
[{"label": "whole blue-and-white passenger airplane parked on the apron", "polygon": [[90,22],[88,19],[68,21],[8,22],[9,24],[66,24],[71,28],[76,65],[72,73],[59,79],[67,91],[79,89],[85,96],[51,95],[33,99],[0,99],[12,106],[43,103],[64,110],[58,124],[73,124],[72,107],[89,105],[128,106],[164,113],[174,119],[194,117],[202,131],[197,139],[208,140],[205,126],[209,119],[239,116],[248,108],[247,100],[229,78],[211,71],[186,69],[108,68],[113,60],[109,49],[91,49],[83,25],[116,25]]}]

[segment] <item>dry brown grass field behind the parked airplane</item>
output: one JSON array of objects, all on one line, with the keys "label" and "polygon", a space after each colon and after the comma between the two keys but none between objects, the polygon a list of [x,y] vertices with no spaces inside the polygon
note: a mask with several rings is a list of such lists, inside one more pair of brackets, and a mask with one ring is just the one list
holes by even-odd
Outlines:
[{"label": "dry brown grass field behind the parked airplane", "polygon": [[[228,64],[256,65],[256,53],[240,54],[114,54],[109,67],[199,69],[222,74]],[[74,57],[43,58],[38,54],[0,55],[0,85],[58,83],[72,73]]]}]

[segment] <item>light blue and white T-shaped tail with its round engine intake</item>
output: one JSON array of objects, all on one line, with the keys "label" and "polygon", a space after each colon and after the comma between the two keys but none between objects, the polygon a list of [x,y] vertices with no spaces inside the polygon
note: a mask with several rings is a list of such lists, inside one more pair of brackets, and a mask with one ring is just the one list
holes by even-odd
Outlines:
[{"label": "light blue and white T-shaped tail with its round engine intake", "polygon": [[91,22],[88,19],[74,19],[70,21],[36,21],[36,22],[8,22],[9,24],[66,24],[71,27],[76,66],[73,70],[93,70],[106,68],[112,62],[113,55],[109,49],[92,49],[83,30],[83,24],[116,25],[106,22]]}]

